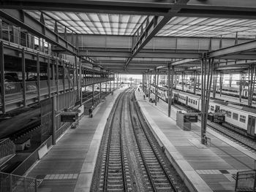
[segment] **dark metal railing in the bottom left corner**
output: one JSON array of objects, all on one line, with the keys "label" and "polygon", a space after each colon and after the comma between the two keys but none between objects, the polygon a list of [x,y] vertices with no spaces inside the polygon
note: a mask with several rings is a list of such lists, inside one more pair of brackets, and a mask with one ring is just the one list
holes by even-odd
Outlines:
[{"label": "dark metal railing in the bottom left corner", "polygon": [[0,192],[36,192],[37,180],[0,172]]}]

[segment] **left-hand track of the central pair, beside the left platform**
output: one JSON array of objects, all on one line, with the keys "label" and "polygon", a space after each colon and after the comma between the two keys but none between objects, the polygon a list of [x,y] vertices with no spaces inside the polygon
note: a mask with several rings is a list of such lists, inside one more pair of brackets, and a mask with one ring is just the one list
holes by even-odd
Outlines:
[{"label": "left-hand track of the central pair, beside the left platform", "polygon": [[[125,93],[125,92],[124,92]],[[121,128],[121,118],[124,107],[124,93],[118,97],[110,123],[110,129],[104,148],[102,161],[102,177],[99,191],[132,191],[129,180],[129,168],[126,166],[127,155],[124,147],[124,136]],[[118,113],[117,111],[120,111]]]}]

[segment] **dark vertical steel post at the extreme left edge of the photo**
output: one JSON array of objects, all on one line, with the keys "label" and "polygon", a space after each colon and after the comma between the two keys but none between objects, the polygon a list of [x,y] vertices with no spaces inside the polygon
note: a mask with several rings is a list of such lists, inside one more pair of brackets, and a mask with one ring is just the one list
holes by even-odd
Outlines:
[{"label": "dark vertical steel post at the extreme left edge of the photo", "polygon": [[0,42],[0,65],[1,65],[1,111],[5,113],[5,87],[4,87],[4,44]]}]

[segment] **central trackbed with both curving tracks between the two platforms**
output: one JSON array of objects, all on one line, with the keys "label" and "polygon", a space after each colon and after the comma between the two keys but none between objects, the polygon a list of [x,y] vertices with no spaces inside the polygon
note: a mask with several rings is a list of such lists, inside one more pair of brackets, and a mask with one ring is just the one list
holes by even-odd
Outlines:
[{"label": "central trackbed with both curving tracks between the two platforms", "polygon": [[138,111],[134,91],[118,96],[105,128],[91,191],[187,191]]}]

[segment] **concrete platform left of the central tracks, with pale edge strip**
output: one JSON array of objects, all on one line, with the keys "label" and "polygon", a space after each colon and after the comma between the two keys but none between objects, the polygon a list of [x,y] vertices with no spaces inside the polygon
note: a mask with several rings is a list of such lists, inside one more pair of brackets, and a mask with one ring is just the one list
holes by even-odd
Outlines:
[{"label": "concrete platform left of the central tracks, with pale edge strip", "polygon": [[121,91],[107,96],[94,109],[94,118],[86,115],[77,128],[68,129],[48,154],[34,165],[28,175],[42,178],[39,192],[90,191],[105,123]]}]

